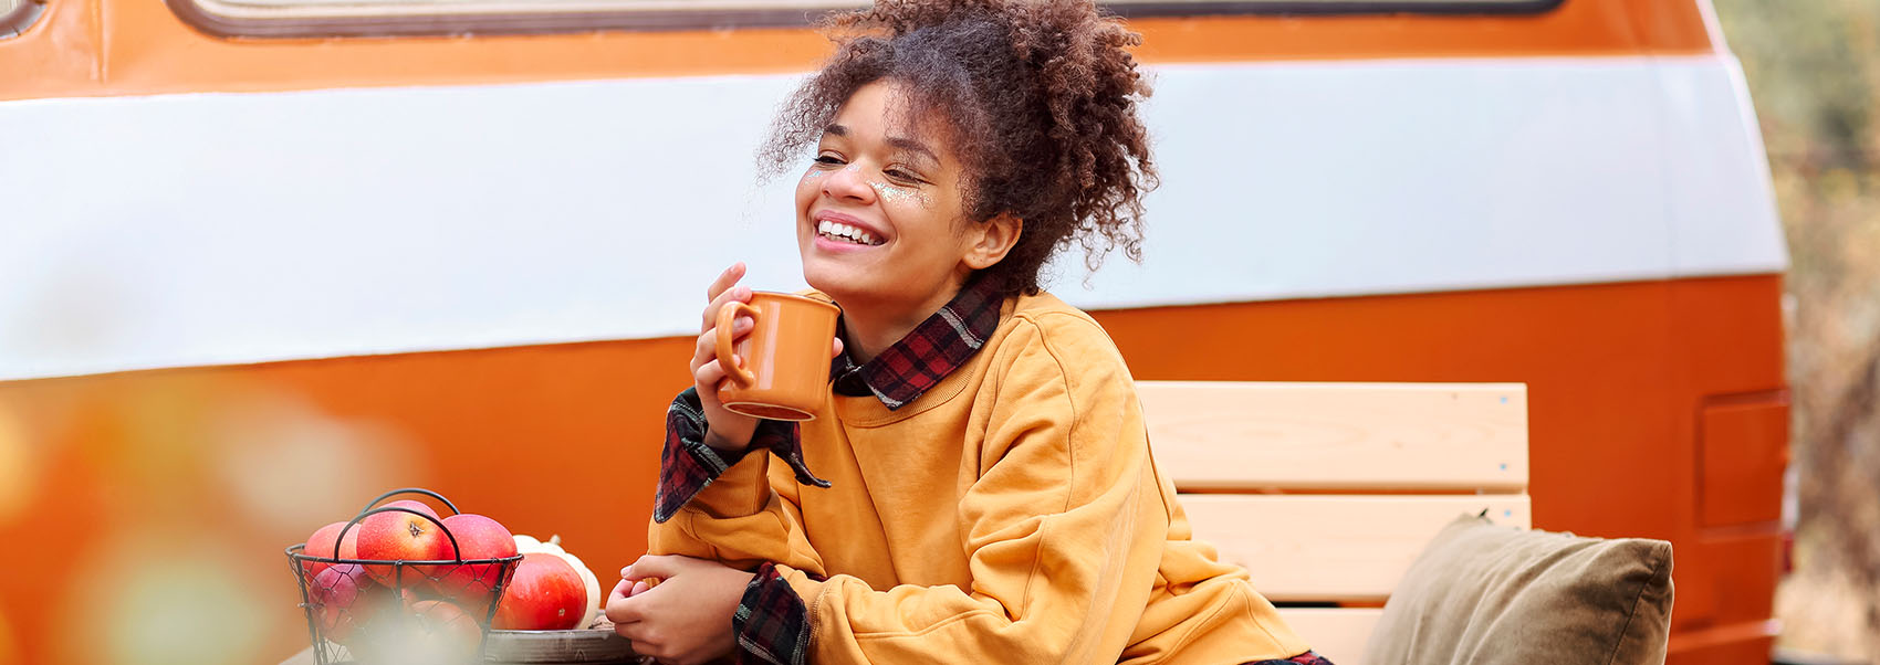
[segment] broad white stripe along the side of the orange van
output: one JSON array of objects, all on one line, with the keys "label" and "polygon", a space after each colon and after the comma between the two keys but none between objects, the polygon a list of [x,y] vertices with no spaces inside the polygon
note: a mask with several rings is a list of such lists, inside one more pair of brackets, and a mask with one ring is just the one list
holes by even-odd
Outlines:
[{"label": "broad white stripe along the side of the orange van", "polygon": [[[1141,267],[1087,308],[1777,272],[1718,56],[1164,66]],[[0,379],[697,329],[788,289],[795,77],[0,101]]]}]

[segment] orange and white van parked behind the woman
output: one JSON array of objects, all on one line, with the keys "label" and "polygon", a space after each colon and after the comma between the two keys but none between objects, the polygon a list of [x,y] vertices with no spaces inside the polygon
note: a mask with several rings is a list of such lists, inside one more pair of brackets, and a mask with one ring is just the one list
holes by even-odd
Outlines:
[{"label": "orange and white van parked behind the woman", "polygon": [[[1705,0],[1109,8],[1164,186],[1053,291],[1137,378],[1525,381],[1534,526],[1767,659],[1786,248]],[[397,485],[630,562],[703,286],[799,284],[820,9],[0,0],[0,661],[286,657],[280,549]]]}]

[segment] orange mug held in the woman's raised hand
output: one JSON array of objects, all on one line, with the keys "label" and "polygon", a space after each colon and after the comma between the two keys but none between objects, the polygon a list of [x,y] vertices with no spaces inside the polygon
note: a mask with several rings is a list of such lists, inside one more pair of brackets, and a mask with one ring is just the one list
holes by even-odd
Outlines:
[{"label": "orange mug held in the woman's raised hand", "polygon": [[[718,402],[733,413],[771,421],[816,419],[829,391],[829,340],[840,312],[833,302],[775,291],[726,302],[718,308],[718,364],[726,376]],[[733,344],[731,323],[739,314],[758,325]]]}]

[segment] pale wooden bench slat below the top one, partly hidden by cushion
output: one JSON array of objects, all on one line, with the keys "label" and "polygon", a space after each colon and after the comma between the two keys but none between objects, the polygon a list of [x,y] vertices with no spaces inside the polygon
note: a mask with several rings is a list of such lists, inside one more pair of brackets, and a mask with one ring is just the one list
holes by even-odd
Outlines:
[{"label": "pale wooden bench slat below the top one, partly hidden by cushion", "polygon": [[1446,524],[1483,509],[1530,526],[1527,494],[1183,494],[1194,537],[1273,601],[1382,601]]}]

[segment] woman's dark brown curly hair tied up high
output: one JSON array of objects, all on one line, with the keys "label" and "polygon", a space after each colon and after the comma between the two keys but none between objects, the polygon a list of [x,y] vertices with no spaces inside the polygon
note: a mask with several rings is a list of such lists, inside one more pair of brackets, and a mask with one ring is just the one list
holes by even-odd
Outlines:
[{"label": "woman's dark brown curly hair tied up high", "polygon": [[1017,246],[979,271],[1002,293],[1038,293],[1070,244],[1090,271],[1115,248],[1141,261],[1141,199],[1158,180],[1136,113],[1149,83],[1126,51],[1141,36],[1120,19],[1090,0],[878,0],[822,26],[837,53],[784,103],[758,152],[769,175],[857,88],[893,81],[901,111],[938,118],[951,139],[966,218],[1023,220]]}]

